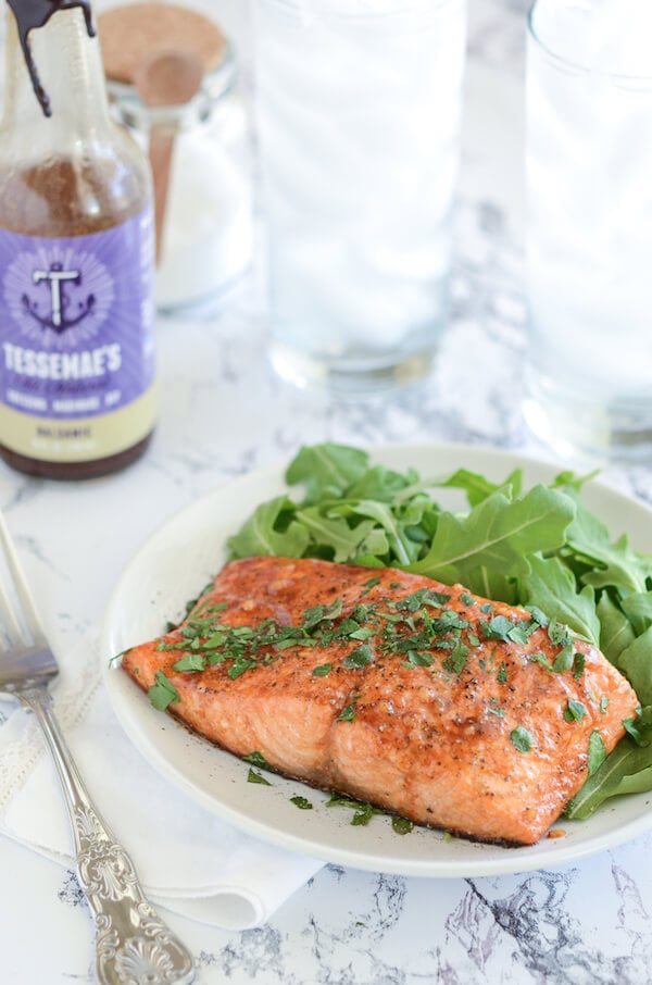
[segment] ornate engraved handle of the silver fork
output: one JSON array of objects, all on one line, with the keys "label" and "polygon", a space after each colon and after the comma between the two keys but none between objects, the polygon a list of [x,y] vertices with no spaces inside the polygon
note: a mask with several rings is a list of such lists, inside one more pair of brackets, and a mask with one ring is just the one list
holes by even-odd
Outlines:
[{"label": "ornate engraved handle of the silver fork", "polygon": [[16,691],[37,716],[57,763],[75,836],[77,873],[95,915],[96,971],[102,985],[184,985],[192,958],[145,896],[127,852],[95,808],[42,684]]}]

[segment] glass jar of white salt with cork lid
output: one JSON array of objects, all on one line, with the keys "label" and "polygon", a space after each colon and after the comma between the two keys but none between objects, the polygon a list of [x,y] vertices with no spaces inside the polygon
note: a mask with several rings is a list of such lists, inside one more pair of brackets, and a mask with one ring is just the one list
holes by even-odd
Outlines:
[{"label": "glass jar of white salt with cork lid", "polygon": [[[176,314],[218,302],[247,271],[253,249],[248,120],[233,48],[214,22],[173,4],[112,8],[98,25],[118,119],[143,146],[153,126],[174,135],[156,307]],[[201,85],[180,105],[147,105],[134,83],[138,66],[170,51],[201,60]]]}]

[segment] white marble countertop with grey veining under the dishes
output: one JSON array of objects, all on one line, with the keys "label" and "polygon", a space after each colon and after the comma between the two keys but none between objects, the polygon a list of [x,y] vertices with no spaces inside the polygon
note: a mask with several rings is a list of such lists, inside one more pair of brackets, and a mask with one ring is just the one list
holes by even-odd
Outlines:
[{"label": "white marble countertop with grey veining under the dishes", "polygon": [[[209,2],[209,0],[206,0]],[[247,82],[241,0],[222,21]],[[0,508],[57,647],[99,624],[136,547],[201,494],[301,444],[463,441],[550,458],[519,411],[525,0],[472,0],[454,316],[423,385],[338,402],[292,389],[266,361],[258,264],[202,319],[161,320],[164,399],[148,454],[126,472],[54,484],[0,466]],[[604,481],[652,504],[652,467]],[[92,982],[92,932],[71,871],[0,838],[0,975]],[[171,919],[198,983],[612,985],[652,981],[652,837],[564,868],[419,880],[326,865],[264,926]]]}]

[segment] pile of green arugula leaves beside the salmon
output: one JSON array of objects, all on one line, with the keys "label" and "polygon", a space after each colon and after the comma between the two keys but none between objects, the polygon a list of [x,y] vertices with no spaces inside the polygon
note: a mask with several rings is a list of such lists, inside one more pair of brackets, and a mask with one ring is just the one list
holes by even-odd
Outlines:
[{"label": "pile of green arugula leaves beside the salmon", "polygon": [[[271,554],[399,568],[546,613],[600,646],[644,706],[606,758],[593,733],[591,775],[567,816],[652,790],[652,557],[624,535],[614,539],[588,508],[582,495],[592,475],[562,472],[529,489],[518,469],[502,482],[466,469],[424,478],[373,463],[363,449],[324,442],[302,447],[285,478],[288,491],[261,503],[229,538],[231,560]],[[466,508],[444,509],[437,489],[457,490]]]}]

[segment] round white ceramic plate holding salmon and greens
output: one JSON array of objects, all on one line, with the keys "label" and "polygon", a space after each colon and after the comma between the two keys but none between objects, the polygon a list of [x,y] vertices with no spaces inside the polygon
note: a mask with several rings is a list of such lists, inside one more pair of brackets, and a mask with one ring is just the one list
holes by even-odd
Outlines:
[{"label": "round white ceramic plate holding salmon and greens", "polygon": [[[414,466],[422,477],[444,476],[464,466],[500,481],[523,466],[527,485],[549,482],[559,469],[490,449],[464,446],[384,446],[373,461],[396,469]],[[246,475],[215,489],[178,513],[136,553],[112,596],[103,633],[106,657],[163,632],[177,620],[225,560],[226,538],[255,506],[285,490],[285,466]],[[598,483],[586,501],[610,526],[627,532],[632,546],[652,552],[652,511]],[[450,494],[450,495],[447,495]],[[437,490],[447,506],[465,506],[460,494]],[[134,744],[160,772],[189,797],[235,826],[264,840],[325,861],[378,872],[419,876],[474,876],[557,865],[625,841],[652,826],[652,794],[607,801],[582,822],[562,820],[564,835],[543,838],[531,848],[501,848],[439,832],[392,831],[387,816],[367,826],[351,825],[348,808],[327,808],[326,795],[269,775],[272,786],[247,782],[249,766],[190,734],[170,715],[155,711],[148,697],[114,662],[104,682],[115,712]],[[291,801],[305,796],[313,810]]]}]

